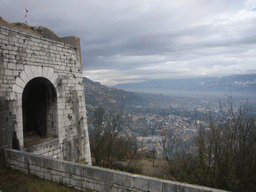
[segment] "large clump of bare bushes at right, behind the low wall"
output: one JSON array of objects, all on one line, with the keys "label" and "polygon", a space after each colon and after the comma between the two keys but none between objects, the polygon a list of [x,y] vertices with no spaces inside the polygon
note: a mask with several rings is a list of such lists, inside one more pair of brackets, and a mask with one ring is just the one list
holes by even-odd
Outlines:
[{"label": "large clump of bare bushes at right, behind the low wall", "polygon": [[220,103],[219,117],[209,115],[209,126],[199,129],[194,153],[177,148],[173,136],[162,145],[169,174],[178,181],[256,191],[256,123],[248,102],[236,107],[229,97],[226,107]]}]

